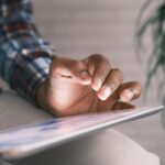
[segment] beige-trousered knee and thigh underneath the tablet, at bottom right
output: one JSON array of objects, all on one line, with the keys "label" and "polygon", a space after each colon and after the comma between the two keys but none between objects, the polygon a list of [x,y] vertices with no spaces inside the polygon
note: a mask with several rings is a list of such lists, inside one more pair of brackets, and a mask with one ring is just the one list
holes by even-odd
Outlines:
[{"label": "beige-trousered knee and thigh underneath the tablet, at bottom right", "polygon": [[160,165],[157,156],[146,152],[128,136],[108,130],[18,162],[16,165]]}]

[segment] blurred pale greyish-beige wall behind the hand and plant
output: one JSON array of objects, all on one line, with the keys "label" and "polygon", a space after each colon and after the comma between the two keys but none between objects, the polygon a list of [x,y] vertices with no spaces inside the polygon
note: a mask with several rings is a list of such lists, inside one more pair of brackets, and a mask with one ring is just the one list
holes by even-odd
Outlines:
[{"label": "blurred pale greyish-beige wall behind the hand and plant", "polygon": [[[125,80],[146,80],[148,53],[135,55],[135,22],[145,0],[35,0],[35,19],[42,35],[58,55],[82,58],[94,53],[109,57],[124,73]],[[158,2],[158,0],[156,0]],[[150,50],[150,48],[148,48]],[[156,84],[156,81],[155,81]],[[139,106],[158,105],[157,86]],[[165,133],[160,114],[116,129],[155,152],[165,164]]]}]

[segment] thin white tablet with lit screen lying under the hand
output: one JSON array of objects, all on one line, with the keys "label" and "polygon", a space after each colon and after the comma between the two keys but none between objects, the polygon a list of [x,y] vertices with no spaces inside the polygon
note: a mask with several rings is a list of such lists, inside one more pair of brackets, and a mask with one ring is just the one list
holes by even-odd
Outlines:
[{"label": "thin white tablet with lit screen lying under the hand", "polygon": [[0,156],[6,160],[30,156],[94,131],[155,114],[163,109],[160,106],[79,114],[4,130],[0,132]]}]

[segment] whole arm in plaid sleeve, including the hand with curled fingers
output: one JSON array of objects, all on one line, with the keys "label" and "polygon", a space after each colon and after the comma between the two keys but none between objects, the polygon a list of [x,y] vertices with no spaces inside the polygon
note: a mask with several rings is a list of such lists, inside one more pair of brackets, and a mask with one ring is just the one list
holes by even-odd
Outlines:
[{"label": "whole arm in plaid sleeve, including the hand with curled fingers", "polygon": [[141,85],[122,84],[122,72],[103,55],[53,61],[52,46],[33,23],[30,0],[6,0],[0,14],[0,75],[18,94],[61,117],[133,108],[125,102],[140,97]]}]

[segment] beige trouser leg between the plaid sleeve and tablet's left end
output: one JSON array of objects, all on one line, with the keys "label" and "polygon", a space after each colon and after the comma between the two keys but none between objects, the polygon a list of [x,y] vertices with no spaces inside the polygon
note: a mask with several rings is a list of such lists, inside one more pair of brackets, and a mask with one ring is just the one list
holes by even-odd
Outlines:
[{"label": "beige trouser leg between the plaid sleeve and tablet's left end", "polygon": [[3,91],[0,95],[0,130],[38,122],[48,118],[52,116],[10,91]]}]

